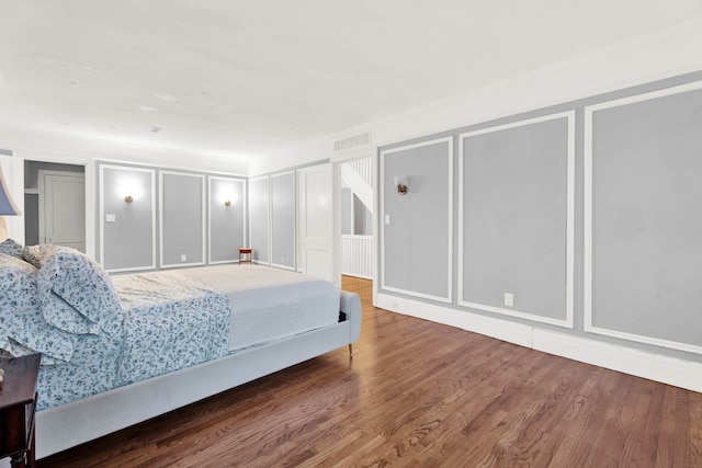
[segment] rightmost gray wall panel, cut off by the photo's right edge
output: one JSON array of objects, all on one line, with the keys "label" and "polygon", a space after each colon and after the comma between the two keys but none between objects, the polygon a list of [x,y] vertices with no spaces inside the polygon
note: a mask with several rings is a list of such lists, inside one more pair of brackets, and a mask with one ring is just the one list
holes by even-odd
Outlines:
[{"label": "rightmost gray wall panel, cut off by the photo's right edge", "polygon": [[591,331],[702,353],[701,88],[586,110]]}]

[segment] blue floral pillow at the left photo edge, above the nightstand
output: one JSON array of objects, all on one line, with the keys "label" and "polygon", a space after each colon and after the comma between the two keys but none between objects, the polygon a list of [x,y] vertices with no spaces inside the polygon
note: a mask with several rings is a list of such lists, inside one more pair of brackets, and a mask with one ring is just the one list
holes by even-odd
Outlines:
[{"label": "blue floral pillow at the left photo edge, above the nightstand", "polygon": [[[68,362],[75,336],[52,327],[38,307],[36,269],[27,262],[0,253],[0,344],[13,355],[43,353]],[[12,346],[16,342],[21,346]]]}]

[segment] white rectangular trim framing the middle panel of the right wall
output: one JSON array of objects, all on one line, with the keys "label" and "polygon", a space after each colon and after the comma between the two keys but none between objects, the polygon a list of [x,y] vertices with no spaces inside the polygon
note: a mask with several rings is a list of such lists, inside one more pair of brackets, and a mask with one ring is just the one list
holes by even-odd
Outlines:
[{"label": "white rectangular trim framing the middle panel of the right wall", "polygon": [[[533,125],[542,122],[556,121],[566,118],[568,123],[567,136],[567,165],[566,165],[566,304],[565,319],[554,319],[550,317],[537,316],[516,309],[506,309],[502,307],[488,306],[485,304],[467,301],[463,297],[463,238],[464,238],[464,158],[463,146],[464,139],[477,135],[484,135],[494,132],[500,132],[509,128]],[[550,323],[558,327],[573,328],[574,323],[574,290],[575,290],[575,111],[566,111],[556,114],[548,114],[541,117],[518,121],[510,124],[498,125],[494,127],[483,128],[475,132],[465,132],[458,135],[458,299],[460,306],[476,308],[495,313],[501,313],[511,317],[518,317],[528,320],[534,320],[543,323]]]}]

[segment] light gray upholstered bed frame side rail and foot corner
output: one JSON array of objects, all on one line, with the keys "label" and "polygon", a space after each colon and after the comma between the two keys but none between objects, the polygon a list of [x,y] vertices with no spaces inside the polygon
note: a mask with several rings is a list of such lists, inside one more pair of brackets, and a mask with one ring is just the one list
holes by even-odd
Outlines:
[{"label": "light gray upholstered bed frame side rail and foot corner", "polygon": [[[47,457],[355,342],[361,300],[341,292],[346,320],[36,413],[36,458]],[[352,355],[352,354],[351,354]]]}]

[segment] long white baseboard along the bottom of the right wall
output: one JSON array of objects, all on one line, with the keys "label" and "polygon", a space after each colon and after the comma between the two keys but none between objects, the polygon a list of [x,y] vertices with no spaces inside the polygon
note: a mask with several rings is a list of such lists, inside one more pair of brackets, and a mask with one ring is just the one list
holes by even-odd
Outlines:
[{"label": "long white baseboard along the bottom of the right wall", "polygon": [[702,378],[700,378],[702,376],[702,363],[647,353],[633,347],[537,329],[508,320],[484,317],[467,310],[450,309],[386,294],[378,294],[376,303],[376,307],[382,309],[431,320],[556,356],[702,392]]}]

